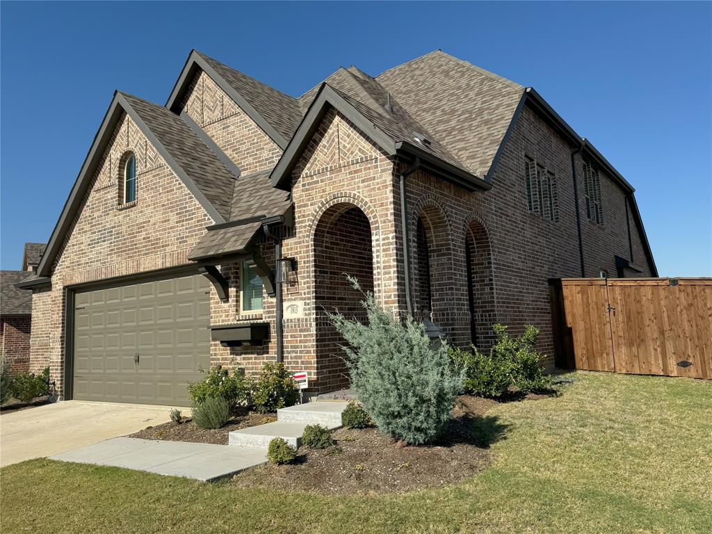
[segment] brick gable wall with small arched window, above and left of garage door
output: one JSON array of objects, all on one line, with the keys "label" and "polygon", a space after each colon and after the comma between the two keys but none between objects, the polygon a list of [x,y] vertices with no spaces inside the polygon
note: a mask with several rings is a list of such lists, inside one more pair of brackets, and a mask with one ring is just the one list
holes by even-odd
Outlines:
[{"label": "brick gable wall with small arched window, above and left of garage door", "polygon": [[[120,162],[129,151],[137,159],[137,194],[122,206]],[[122,117],[53,265],[51,289],[33,291],[30,370],[49,366],[62,393],[65,286],[187,265],[212,222],[130,117]]]}]

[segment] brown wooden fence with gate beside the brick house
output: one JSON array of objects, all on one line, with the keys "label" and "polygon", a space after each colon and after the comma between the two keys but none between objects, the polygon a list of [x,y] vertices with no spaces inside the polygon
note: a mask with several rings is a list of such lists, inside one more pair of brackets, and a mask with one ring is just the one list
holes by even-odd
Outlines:
[{"label": "brown wooden fence with gate beside the brick house", "polygon": [[712,278],[550,281],[557,367],[712,379]]}]

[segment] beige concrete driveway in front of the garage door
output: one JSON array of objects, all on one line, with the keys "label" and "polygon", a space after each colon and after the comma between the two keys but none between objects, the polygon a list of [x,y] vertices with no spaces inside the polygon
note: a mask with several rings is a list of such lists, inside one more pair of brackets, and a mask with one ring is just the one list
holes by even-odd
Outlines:
[{"label": "beige concrete driveway in front of the garage door", "polygon": [[63,401],[0,414],[0,466],[52,456],[169,421],[170,407]]}]

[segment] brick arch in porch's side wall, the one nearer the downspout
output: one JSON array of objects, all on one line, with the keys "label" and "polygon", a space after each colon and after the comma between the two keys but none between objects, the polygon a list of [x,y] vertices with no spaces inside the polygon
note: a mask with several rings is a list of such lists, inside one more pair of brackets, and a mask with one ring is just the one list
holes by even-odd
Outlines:
[{"label": "brick arch in porch's side wall, the one nearer the downspout", "polygon": [[451,216],[434,194],[420,197],[413,207],[411,224],[413,289],[417,318],[430,308],[432,320],[453,327],[454,300],[453,232]]}]

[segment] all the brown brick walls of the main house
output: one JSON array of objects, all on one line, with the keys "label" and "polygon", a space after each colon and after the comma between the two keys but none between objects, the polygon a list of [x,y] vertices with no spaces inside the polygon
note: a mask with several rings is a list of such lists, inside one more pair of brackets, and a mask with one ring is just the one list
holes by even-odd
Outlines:
[{"label": "all the brown brick walls of the main house", "polygon": [[[194,77],[182,103],[242,174],[269,169],[281,157],[278,145],[205,73]],[[118,188],[127,151],[137,157],[137,201],[121,206]],[[581,271],[571,152],[525,106],[503,147],[490,191],[466,192],[422,169],[407,178],[414,308],[417,314],[429,310],[457,345],[467,345],[474,332],[478,345],[488,346],[494,322],[511,325],[515,332],[530,323],[542,330],[540,348],[549,355],[547,365],[553,365],[548,278],[577,277]],[[555,176],[556,221],[528,211],[526,158]],[[576,164],[582,203],[580,155]],[[283,320],[284,355],[291,370],[308,371],[314,391],[347,384],[337,336],[325,319],[325,310],[333,308],[361,313],[359,295],[347,286],[343,273],[357,276],[394,313],[407,310],[398,187],[406,167],[332,108],[293,170],[295,222],[281,232],[282,254],[294,258],[298,267],[296,281],[283,287],[284,306],[296,311]],[[646,266],[631,214],[630,258],[623,190],[602,170],[600,179],[604,222],[587,221],[582,211],[587,276],[597,276],[600,268],[615,273],[614,255]],[[187,253],[212,223],[124,117],[53,266],[51,289],[34,290],[30,367],[50,365],[61,393],[66,286],[187,265]],[[259,246],[273,265],[273,243],[262,238]],[[241,312],[240,271],[239,263],[221,266],[229,299],[223,303],[211,292],[211,324],[266,322],[274,333],[274,298],[265,293],[261,312]],[[262,347],[212,342],[211,354],[214,363],[256,372],[275,359],[276,345],[273,335]]]}]

